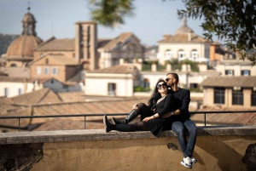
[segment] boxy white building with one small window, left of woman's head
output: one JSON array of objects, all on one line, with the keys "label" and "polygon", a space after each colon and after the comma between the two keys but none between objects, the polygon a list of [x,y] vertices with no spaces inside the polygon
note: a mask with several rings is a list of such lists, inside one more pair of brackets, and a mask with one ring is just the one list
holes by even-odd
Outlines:
[{"label": "boxy white building with one small window, left of woman's head", "polygon": [[133,88],[139,85],[139,71],[131,64],[87,71],[84,77],[87,95],[131,97]]}]

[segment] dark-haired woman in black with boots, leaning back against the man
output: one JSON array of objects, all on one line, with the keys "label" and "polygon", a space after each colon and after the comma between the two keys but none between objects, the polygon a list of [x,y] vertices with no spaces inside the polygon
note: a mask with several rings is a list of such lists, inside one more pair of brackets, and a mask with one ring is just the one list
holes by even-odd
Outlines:
[{"label": "dark-haired woman in black with boots, leaning back against the man", "polygon": [[[160,134],[165,130],[169,123],[171,123],[170,118],[161,118],[168,111],[173,111],[172,105],[174,98],[172,94],[167,94],[167,85],[164,80],[159,80],[154,88],[154,93],[151,99],[148,100],[148,105],[143,103],[133,105],[132,111],[125,121],[119,122],[113,118],[114,123],[108,122],[108,117],[105,115],[103,118],[103,123],[105,124],[106,133],[111,130],[118,130],[124,132],[131,131],[151,131],[155,137],[160,137]],[[133,124],[127,124],[131,122],[138,115],[141,115],[141,121]]]}]

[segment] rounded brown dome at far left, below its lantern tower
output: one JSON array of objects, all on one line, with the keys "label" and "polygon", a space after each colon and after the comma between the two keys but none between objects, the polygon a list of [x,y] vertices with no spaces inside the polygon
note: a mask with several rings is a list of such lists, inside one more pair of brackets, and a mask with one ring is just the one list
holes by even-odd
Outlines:
[{"label": "rounded brown dome at far left, below its lantern tower", "polygon": [[37,36],[20,35],[9,45],[7,56],[32,57],[33,49],[38,47],[38,44],[43,43],[43,40]]}]

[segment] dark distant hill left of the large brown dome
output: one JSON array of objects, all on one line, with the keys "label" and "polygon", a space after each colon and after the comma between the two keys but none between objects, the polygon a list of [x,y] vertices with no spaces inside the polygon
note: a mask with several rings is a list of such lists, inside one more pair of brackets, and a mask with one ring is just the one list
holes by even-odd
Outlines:
[{"label": "dark distant hill left of the large brown dome", "polygon": [[5,54],[9,44],[15,40],[16,37],[20,35],[11,35],[11,34],[1,34],[0,33],[0,56]]}]

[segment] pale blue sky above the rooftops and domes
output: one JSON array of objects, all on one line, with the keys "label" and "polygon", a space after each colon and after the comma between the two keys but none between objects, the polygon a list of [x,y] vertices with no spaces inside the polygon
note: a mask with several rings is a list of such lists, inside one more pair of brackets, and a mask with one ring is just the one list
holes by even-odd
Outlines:
[{"label": "pale blue sky above the rooftops and domes", "polygon": [[[20,34],[21,20],[27,13],[29,0],[0,0],[0,33]],[[30,0],[30,12],[37,20],[38,37],[75,37],[75,22],[91,20],[89,0]],[[111,29],[98,25],[98,38],[113,38],[121,32],[133,32],[141,43],[157,45],[164,34],[174,34],[182,26],[177,9],[184,9],[181,0],[135,0],[133,17],[125,25]],[[200,20],[188,20],[188,26],[202,36]],[[217,37],[213,37],[215,41]]]}]

